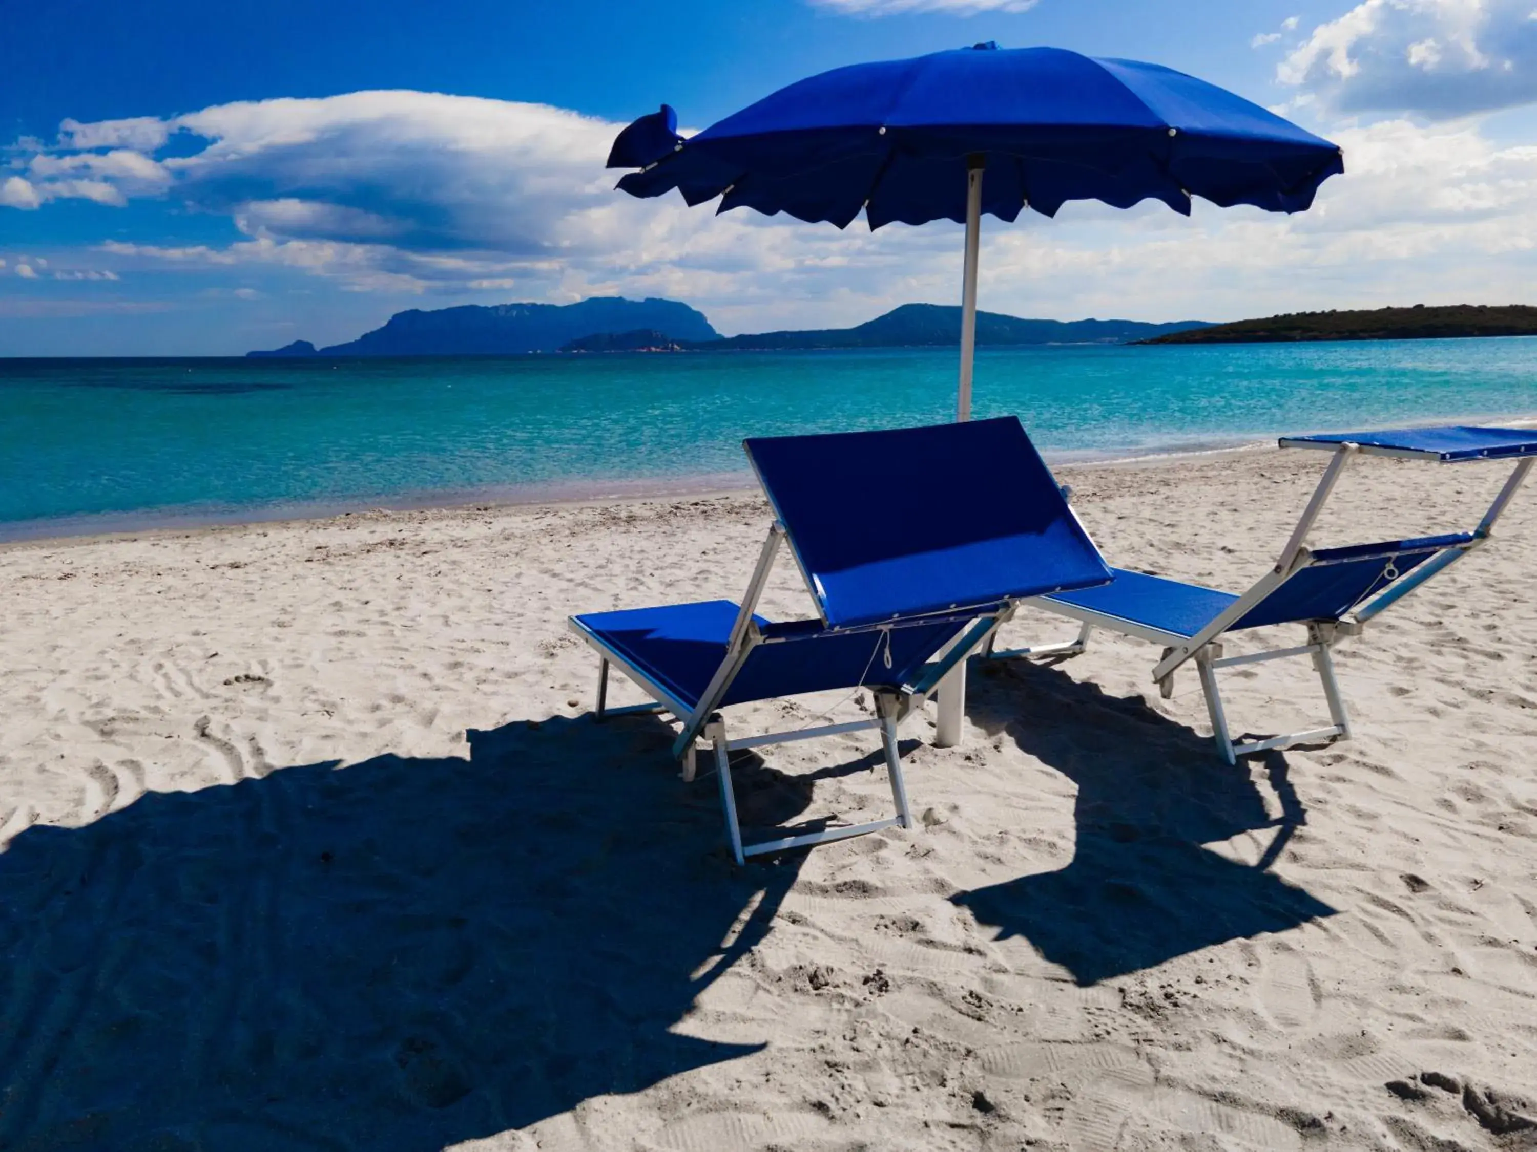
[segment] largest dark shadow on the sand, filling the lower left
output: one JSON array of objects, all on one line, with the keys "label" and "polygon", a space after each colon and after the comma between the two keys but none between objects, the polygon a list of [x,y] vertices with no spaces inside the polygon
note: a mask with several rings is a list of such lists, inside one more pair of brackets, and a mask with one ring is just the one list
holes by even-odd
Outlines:
[{"label": "largest dark shadow on the sand, filling the lower left", "polygon": [[655,719],[469,736],[17,837],[0,1147],[427,1152],[761,1051],[679,1023],[796,860],[732,868]]}]

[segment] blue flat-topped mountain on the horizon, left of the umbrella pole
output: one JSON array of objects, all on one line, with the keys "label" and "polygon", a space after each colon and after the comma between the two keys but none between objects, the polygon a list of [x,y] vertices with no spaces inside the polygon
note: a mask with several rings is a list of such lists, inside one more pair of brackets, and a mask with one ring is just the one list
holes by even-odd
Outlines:
[{"label": "blue flat-topped mountain on the horizon, left of the umbrella pole", "polygon": [[[712,341],[719,333],[702,312],[675,300],[593,296],[578,304],[496,304],[397,312],[381,329],[318,353],[295,341],[275,353],[321,356],[507,356],[556,352],[573,339],[652,329],[678,341]],[[309,349],[307,352],[304,349]]]}]

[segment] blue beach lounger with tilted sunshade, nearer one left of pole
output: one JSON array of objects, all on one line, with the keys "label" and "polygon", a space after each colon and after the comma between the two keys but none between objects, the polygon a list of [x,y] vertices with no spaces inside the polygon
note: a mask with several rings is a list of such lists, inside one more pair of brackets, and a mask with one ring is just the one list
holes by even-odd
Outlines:
[{"label": "blue beach lounger with tilted sunshade, nearer one left of pole", "polygon": [[[650,711],[679,725],[673,756],[693,779],[696,742],[715,751],[738,863],[825,843],[911,816],[896,727],[1028,596],[1110,579],[1014,418],[893,432],[749,439],[775,513],[742,602],[709,601],[573,616],[599,657],[596,714]],[[770,622],[758,599],[785,542],[816,619]],[[609,668],[655,703],[609,710]],[[876,717],[732,739],[722,710],[868,687]],[[879,730],[896,816],[744,845],[730,753]],[[781,829],[782,831],[782,829]]]}]

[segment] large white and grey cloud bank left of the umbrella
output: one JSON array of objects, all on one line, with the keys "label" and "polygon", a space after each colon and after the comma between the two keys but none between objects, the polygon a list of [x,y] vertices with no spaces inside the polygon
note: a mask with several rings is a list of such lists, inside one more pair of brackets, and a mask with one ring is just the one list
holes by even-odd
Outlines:
[{"label": "large white and grey cloud bank left of the umbrella", "polygon": [[[0,184],[0,203],[164,197],[227,215],[246,237],[224,249],[105,246],[140,260],[287,266],[363,290],[544,283],[615,249],[644,261],[638,249],[666,243],[658,221],[681,212],[613,194],[603,163],[618,129],[544,104],[430,92],[66,120],[57,144],[12,161],[22,174]],[[178,155],[157,155],[172,138]]]}]

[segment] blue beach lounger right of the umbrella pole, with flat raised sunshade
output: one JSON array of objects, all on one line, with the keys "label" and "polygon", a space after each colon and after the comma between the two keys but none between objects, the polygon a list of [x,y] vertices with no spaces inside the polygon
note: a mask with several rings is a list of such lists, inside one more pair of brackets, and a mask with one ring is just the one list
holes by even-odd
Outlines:
[{"label": "blue beach lounger right of the umbrella pole, with flat raised sunshade", "polygon": [[[1014,651],[991,651],[990,641],[987,654],[1010,659],[1081,653],[1094,628],[1108,628],[1164,647],[1164,656],[1153,668],[1153,680],[1165,699],[1173,694],[1174,671],[1188,660],[1196,662],[1200,687],[1207,696],[1207,710],[1211,714],[1213,734],[1228,763],[1237,756],[1270,748],[1349,739],[1349,714],[1334,679],[1330,650],[1342,636],[1359,636],[1385,608],[1489,539],[1494,522],[1532,467],[1532,456],[1537,456],[1537,432],[1474,427],[1396,429],[1290,436],[1280,441],[1280,447],[1323,449],[1333,452],[1333,458],[1291,539],[1280,550],[1276,567],[1247,593],[1234,596],[1216,588],[1114,568],[1116,579],[1111,584],[1081,591],[1050,593],[1031,601],[1034,607],[1079,621],[1082,628],[1076,641]],[[1472,531],[1310,551],[1305,547],[1308,533],[1345,464],[1356,456],[1399,456],[1440,464],[1511,459],[1517,462],[1483,521]],[[1274,624],[1305,625],[1306,644],[1279,651],[1223,656],[1222,637],[1228,633]],[[1323,682],[1333,723],[1266,740],[1234,743],[1228,734],[1222,696],[1217,691],[1217,670],[1288,656],[1313,657],[1313,665]]]}]

